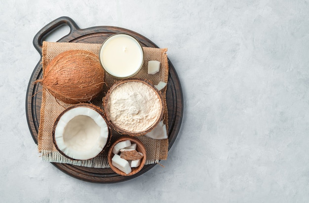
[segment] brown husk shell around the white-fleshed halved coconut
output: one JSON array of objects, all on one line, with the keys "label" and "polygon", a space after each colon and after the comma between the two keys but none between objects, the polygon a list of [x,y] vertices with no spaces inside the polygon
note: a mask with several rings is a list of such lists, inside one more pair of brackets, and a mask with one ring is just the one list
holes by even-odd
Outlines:
[{"label": "brown husk shell around the white-fleshed halved coconut", "polygon": [[[54,143],[56,149],[58,150],[58,152],[60,152],[60,154],[62,154],[64,157],[66,157],[66,158],[68,158],[68,159],[70,159],[70,160],[73,160],[73,161],[76,160],[76,159],[73,159],[73,158],[67,156],[66,154],[64,154],[64,153],[58,148],[57,142],[56,142],[56,139],[55,139],[55,130],[56,130],[56,127],[57,127],[57,124],[58,124],[60,118],[64,115],[64,113],[66,113],[67,111],[69,111],[69,110],[71,110],[71,109],[77,108],[77,107],[87,107],[87,108],[93,109],[94,111],[98,112],[98,113],[103,117],[104,121],[107,123],[107,126],[108,126],[108,128],[109,128],[109,134],[108,134],[108,138],[107,138],[108,141],[107,141],[106,145],[104,146],[102,152],[105,151],[105,149],[106,149],[107,147],[110,146],[110,144],[111,144],[111,137],[112,137],[112,134],[111,134],[111,131],[112,131],[112,130],[111,130],[111,127],[110,127],[110,125],[108,124],[109,122],[106,120],[104,111],[103,111],[100,107],[98,107],[98,106],[96,106],[96,105],[94,105],[94,104],[79,103],[79,104],[75,104],[75,105],[73,105],[73,106],[71,106],[71,107],[66,108],[63,112],[61,112],[61,114],[57,117],[56,121],[54,122],[53,131],[52,131],[52,138],[53,138],[53,143]],[[101,152],[101,153],[102,153],[102,152]]]}]

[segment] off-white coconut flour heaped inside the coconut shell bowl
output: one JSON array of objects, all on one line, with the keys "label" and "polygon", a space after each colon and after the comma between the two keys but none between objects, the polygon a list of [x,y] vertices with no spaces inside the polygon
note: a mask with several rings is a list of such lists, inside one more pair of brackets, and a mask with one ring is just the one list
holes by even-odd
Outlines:
[{"label": "off-white coconut flour heaped inside the coconut shell bowl", "polygon": [[108,101],[111,120],[131,132],[140,132],[150,127],[157,120],[160,108],[160,100],[154,90],[139,81],[118,85]]}]

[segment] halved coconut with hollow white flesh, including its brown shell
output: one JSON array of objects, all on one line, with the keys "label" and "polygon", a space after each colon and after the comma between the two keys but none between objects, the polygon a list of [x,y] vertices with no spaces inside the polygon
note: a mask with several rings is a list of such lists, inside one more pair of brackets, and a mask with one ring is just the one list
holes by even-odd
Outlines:
[{"label": "halved coconut with hollow white flesh, including its brown shell", "polygon": [[93,104],[76,104],[64,110],[56,119],[53,141],[59,152],[73,160],[96,157],[110,138],[104,112]]}]

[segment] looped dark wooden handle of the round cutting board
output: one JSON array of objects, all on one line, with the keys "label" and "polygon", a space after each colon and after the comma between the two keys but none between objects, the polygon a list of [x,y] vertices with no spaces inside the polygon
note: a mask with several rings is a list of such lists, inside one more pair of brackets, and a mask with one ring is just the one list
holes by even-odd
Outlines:
[{"label": "looped dark wooden handle of the round cutting board", "polygon": [[62,16],[60,18],[57,18],[47,25],[45,25],[34,37],[33,39],[33,45],[38,50],[39,54],[42,54],[42,45],[45,38],[48,36],[48,34],[52,33],[54,30],[59,28],[60,26],[68,25],[70,27],[70,33],[64,37],[70,36],[72,33],[77,32],[79,30],[79,27],[77,24],[72,20],[70,17]]}]

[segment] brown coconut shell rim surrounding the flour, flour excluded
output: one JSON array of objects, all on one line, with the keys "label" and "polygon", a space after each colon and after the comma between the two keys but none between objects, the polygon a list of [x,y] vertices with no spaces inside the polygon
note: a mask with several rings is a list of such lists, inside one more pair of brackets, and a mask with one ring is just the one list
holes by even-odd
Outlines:
[{"label": "brown coconut shell rim surrounding the flour, flour excluded", "polygon": [[[125,82],[130,82],[130,81],[138,81],[138,82],[143,82],[144,84],[148,85],[149,87],[151,87],[155,94],[157,95],[157,97],[159,98],[159,101],[160,101],[160,113],[159,113],[159,116],[157,117],[156,121],[151,125],[149,126],[146,130],[143,130],[143,131],[139,131],[139,132],[132,132],[132,131],[128,131],[128,130],[125,130],[123,128],[121,128],[120,126],[116,125],[110,115],[109,115],[109,104],[108,104],[108,101],[109,101],[109,97],[111,95],[111,93],[113,92],[113,90],[118,86],[118,85],[121,85]],[[106,96],[103,97],[103,106],[104,106],[104,111],[105,111],[105,115],[106,115],[106,118],[107,120],[110,122],[111,126],[113,126],[113,128],[121,133],[121,134],[126,134],[126,135],[129,135],[129,136],[141,136],[141,135],[145,135],[146,133],[152,131],[154,129],[155,126],[157,126],[157,124],[162,120],[162,117],[163,117],[163,112],[164,112],[164,103],[163,103],[163,99],[162,99],[162,95],[161,93],[157,90],[157,88],[155,88],[155,86],[153,85],[153,83],[151,81],[148,81],[148,80],[145,80],[145,79],[124,79],[124,80],[121,80],[121,81],[118,81],[116,82],[109,90],[108,92],[106,93]]]}]

